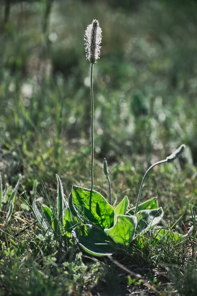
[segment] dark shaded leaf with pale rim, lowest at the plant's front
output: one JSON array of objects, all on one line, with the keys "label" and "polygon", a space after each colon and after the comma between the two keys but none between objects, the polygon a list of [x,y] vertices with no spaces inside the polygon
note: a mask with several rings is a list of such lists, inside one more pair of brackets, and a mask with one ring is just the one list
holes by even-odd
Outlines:
[{"label": "dark shaded leaf with pale rim, lowest at the plant's front", "polygon": [[97,226],[85,224],[72,231],[79,245],[87,253],[94,256],[112,255],[114,248],[109,237]]}]

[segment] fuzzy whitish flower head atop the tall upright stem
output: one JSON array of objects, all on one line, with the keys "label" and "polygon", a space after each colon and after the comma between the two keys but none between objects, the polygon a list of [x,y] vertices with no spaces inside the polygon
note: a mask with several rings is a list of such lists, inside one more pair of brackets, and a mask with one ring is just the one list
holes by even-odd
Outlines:
[{"label": "fuzzy whitish flower head atop the tall upright stem", "polygon": [[102,40],[102,30],[98,20],[93,20],[92,24],[88,25],[84,40],[86,59],[95,64],[99,59]]}]

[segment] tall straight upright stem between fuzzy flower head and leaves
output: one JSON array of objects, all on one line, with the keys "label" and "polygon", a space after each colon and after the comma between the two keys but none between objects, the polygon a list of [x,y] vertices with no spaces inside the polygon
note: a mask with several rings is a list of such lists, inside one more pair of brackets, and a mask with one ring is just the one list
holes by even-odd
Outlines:
[{"label": "tall straight upright stem between fuzzy flower head and leaves", "polygon": [[93,66],[91,63],[90,68],[90,93],[91,93],[91,191],[93,190],[94,185],[94,95],[93,95]]}]

